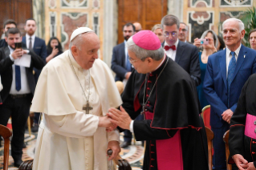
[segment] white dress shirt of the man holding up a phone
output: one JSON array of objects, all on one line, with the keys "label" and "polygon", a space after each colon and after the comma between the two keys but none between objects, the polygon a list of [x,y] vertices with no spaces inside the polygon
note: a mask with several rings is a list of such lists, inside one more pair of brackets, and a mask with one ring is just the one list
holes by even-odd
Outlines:
[{"label": "white dress shirt of the man holding up a phone", "polygon": [[[10,46],[8,46],[10,50],[10,59],[14,61],[14,58],[11,56],[11,54],[14,52],[14,49],[12,49]],[[28,52],[28,51],[26,51]],[[16,80],[15,80],[15,65],[12,65],[12,71],[13,71],[13,80],[11,82],[10,87],[10,94],[11,95],[23,95],[30,93],[30,87],[28,85],[28,81],[26,78],[26,69],[25,67],[20,67],[20,76],[21,76],[21,89],[19,91],[16,90]]]}]

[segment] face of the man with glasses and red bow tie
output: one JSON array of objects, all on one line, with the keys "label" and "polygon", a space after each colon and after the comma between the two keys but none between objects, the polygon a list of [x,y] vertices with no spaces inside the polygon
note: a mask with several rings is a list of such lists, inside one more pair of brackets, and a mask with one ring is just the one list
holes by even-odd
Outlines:
[{"label": "face of the man with glasses and red bow tie", "polygon": [[173,46],[175,42],[177,42],[179,29],[177,24],[173,24],[173,26],[165,26],[163,29],[163,34],[165,36],[165,41],[169,46]]}]

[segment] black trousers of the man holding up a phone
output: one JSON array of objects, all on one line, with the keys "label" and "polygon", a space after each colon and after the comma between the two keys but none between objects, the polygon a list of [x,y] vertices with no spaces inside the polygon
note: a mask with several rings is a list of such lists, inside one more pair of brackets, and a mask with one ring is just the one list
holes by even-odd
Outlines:
[{"label": "black trousers of the man holding up a phone", "polygon": [[22,146],[26,120],[30,113],[32,95],[15,98],[9,95],[0,105],[0,124],[6,126],[11,116],[13,136],[11,140],[11,156],[15,161],[22,159]]}]

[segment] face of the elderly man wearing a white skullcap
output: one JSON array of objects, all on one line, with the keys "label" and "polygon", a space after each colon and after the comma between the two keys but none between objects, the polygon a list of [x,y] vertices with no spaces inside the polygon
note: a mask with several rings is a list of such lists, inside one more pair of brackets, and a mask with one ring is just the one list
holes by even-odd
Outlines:
[{"label": "face of the elderly man wearing a white skullcap", "polygon": [[100,49],[100,39],[95,33],[82,34],[82,41],[79,47],[71,47],[75,61],[85,70],[92,67],[95,59],[98,59]]}]

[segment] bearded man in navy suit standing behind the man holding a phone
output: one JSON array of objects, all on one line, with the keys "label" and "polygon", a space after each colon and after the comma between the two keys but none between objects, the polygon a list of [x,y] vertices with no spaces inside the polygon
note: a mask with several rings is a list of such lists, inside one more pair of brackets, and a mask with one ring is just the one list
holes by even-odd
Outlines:
[{"label": "bearded man in navy suit standing behind the man holding a phone", "polygon": [[[35,54],[39,55],[41,59],[43,59],[43,61],[46,61],[47,59],[46,43],[43,39],[35,36],[36,22],[34,18],[26,19],[24,30],[26,30],[26,36],[22,38],[22,42],[26,44],[26,47],[28,49],[33,50]],[[38,70],[34,68],[34,71],[35,71],[35,75],[34,75],[35,83],[37,83],[39,79],[39,75],[41,73],[41,69]],[[40,116],[39,113],[35,113],[34,124],[31,129],[32,132],[39,131],[39,116]]]}]

